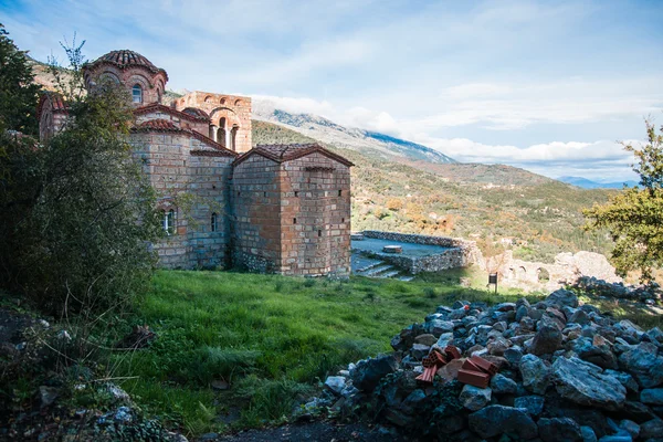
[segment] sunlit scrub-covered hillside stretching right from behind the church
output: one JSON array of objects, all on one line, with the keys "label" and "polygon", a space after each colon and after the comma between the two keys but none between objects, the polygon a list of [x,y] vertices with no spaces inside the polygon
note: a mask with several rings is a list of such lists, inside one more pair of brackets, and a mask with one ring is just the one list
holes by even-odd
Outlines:
[{"label": "sunlit scrub-covered hillside stretching right from behind the church", "polygon": [[[253,139],[261,143],[312,143],[286,127],[254,120]],[[604,202],[611,191],[582,190],[508,166],[457,165],[461,177],[502,173],[508,186],[455,182],[410,165],[386,160],[323,143],[355,162],[352,230],[378,229],[499,240],[519,244],[515,255],[551,261],[559,252],[606,253],[606,234],[586,233],[581,209]],[[448,166],[444,166],[448,167]],[[508,172],[516,172],[509,178]],[[532,180],[530,180],[532,179]]]}]

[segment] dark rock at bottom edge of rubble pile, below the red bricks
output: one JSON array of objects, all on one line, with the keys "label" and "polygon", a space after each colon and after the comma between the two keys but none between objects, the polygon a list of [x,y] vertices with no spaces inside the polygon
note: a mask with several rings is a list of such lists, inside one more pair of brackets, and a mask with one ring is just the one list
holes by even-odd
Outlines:
[{"label": "dark rock at bottom edge of rubble pile, below the red bricks", "polygon": [[520,439],[534,439],[538,428],[525,409],[490,406],[467,418],[470,430],[487,439],[502,433],[515,434]]}]

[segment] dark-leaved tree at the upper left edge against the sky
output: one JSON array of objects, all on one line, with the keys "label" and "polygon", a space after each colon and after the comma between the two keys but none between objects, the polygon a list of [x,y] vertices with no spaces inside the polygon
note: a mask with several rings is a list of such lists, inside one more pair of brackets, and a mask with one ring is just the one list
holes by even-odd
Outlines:
[{"label": "dark-leaved tree at the upper left edge against the sky", "polygon": [[[0,133],[7,129],[36,134],[36,98],[27,52],[19,51],[0,23]],[[1,154],[1,152],[0,152]]]}]

